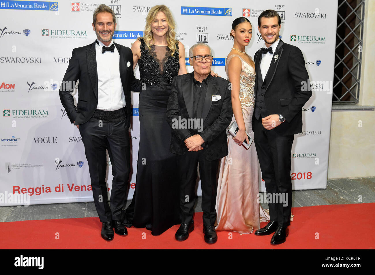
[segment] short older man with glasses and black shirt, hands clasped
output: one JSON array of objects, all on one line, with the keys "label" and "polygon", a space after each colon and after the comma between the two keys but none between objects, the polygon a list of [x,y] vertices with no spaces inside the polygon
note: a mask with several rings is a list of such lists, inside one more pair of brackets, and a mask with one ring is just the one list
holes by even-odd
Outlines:
[{"label": "short older man with glasses and black shirt, hands clasped", "polygon": [[183,241],[194,229],[193,206],[199,164],[204,240],[213,244],[217,241],[214,228],[216,173],[220,158],[228,155],[226,128],[233,116],[231,91],[227,80],[210,75],[213,58],[207,44],[193,45],[189,56],[194,72],[174,77],[166,111],[172,127],[170,151],[184,155],[186,161],[180,192],[182,224],[175,238]]}]

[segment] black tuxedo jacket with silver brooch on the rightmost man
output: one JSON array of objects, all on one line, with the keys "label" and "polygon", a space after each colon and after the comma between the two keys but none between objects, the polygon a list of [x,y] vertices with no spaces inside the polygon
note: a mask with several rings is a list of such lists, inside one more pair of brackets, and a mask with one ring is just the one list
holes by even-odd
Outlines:
[{"label": "black tuxedo jacket with silver brooch on the rightmost man", "polygon": [[[276,131],[280,135],[293,135],[302,132],[302,107],[309,100],[312,92],[310,87],[306,89],[307,91],[302,89],[304,83],[305,87],[307,87],[309,75],[301,50],[296,46],[282,42],[280,39],[264,81],[260,70],[261,57],[261,51],[257,51],[254,56],[256,75],[254,87],[255,105],[258,87],[264,86],[264,102],[268,112],[267,116],[281,114],[285,118],[285,122],[271,131]],[[252,119],[253,131],[254,114]]]}]

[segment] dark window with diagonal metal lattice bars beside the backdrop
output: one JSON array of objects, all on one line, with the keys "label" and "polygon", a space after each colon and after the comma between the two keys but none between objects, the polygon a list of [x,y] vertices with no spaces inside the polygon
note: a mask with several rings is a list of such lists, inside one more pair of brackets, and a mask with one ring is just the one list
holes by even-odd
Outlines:
[{"label": "dark window with diagonal metal lattice bars beside the backdrop", "polygon": [[339,0],[333,104],[357,104],[361,79],[365,0]]}]

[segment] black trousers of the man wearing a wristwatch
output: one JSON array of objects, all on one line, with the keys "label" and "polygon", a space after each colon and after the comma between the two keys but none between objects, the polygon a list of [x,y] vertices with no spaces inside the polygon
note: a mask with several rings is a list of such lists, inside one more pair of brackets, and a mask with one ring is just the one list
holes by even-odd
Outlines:
[{"label": "black trousers of the man wearing a wristwatch", "polygon": [[261,117],[254,122],[254,143],[267,195],[271,194],[271,221],[279,226],[290,225],[292,210],[291,150],[294,135],[282,136],[275,129],[264,129]]}]

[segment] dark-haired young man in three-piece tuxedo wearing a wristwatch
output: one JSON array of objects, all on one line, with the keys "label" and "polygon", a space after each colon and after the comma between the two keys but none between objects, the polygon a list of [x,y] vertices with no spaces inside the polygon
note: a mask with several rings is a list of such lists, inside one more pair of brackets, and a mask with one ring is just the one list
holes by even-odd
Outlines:
[{"label": "dark-haired young man in three-piece tuxedo wearing a wristwatch", "polygon": [[[302,107],[311,97],[303,91],[309,75],[302,52],[279,38],[281,19],[275,10],[258,18],[265,48],[255,53],[255,107],[252,117],[254,142],[262,178],[272,198],[270,222],[255,235],[273,234],[271,244],[285,242],[292,208],[291,149],[294,134],[302,132]],[[278,195],[278,196],[275,196]],[[284,205],[284,206],[283,206]]]}]

